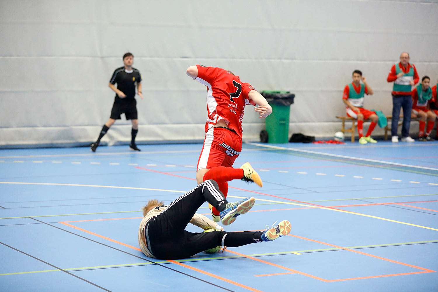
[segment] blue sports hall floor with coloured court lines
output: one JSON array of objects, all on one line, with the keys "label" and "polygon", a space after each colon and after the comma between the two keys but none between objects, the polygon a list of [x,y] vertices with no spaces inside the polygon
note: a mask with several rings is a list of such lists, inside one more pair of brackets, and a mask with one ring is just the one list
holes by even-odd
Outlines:
[{"label": "blue sports hall floor with coloured court lines", "polygon": [[229,183],[256,203],[225,228],[290,235],[177,261],[141,253],[140,208],[196,186],[202,144],[139,147],[0,150],[0,291],[438,291],[438,142],[245,143],[263,187]]}]

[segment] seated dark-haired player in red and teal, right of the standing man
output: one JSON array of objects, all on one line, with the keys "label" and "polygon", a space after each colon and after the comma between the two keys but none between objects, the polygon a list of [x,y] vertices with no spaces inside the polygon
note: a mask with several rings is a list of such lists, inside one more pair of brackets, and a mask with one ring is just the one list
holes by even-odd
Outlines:
[{"label": "seated dark-haired player in red and teal, right of the standing man", "polygon": [[[430,109],[430,103],[432,102],[432,89],[430,88],[431,78],[424,76],[421,78],[421,83],[415,87],[412,94],[412,117],[417,117],[420,120],[418,140],[419,141],[434,141],[435,139],[430,137],[431,130],[435,124],[435,113]],[[424,128],[427,128],[424,133]]]}]

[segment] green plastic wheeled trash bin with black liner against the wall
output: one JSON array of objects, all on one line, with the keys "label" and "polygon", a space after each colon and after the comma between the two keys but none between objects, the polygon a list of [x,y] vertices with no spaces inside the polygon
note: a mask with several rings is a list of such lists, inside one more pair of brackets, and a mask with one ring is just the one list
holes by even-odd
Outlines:
[{"label": "green plastic wheeled trash bin with black liner against the wall", "polygon": [[261,91],[272,113],[265,119],[268,143],[287,143],[289,136],[290,105],[295,95],[290,91]]}]

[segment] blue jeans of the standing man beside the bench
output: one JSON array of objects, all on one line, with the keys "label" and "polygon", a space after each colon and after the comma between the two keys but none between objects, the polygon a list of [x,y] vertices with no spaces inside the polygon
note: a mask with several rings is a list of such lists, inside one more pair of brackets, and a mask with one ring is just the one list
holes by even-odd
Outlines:
[{"label": "blue jeans of the standing man beside the bench", "polygon": [[408,137],[410,128],[410,115],[412,111],[411,95],[392,95],[391,136],[397,136],[401,107],[403,107],[402,137]]}]

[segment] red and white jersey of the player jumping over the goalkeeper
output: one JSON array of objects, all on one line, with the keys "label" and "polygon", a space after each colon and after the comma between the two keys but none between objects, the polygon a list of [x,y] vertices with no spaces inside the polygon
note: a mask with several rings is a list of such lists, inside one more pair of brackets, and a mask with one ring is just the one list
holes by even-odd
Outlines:
[{"label": "red and white jersey of the player jumping over the goalkeeper", "polygon": [[217,68],[196,65],[198,80],[207,86],[207,123],[205,132],[214,126],[218,120],[224,119],[228,127],[242,137],[242,119],[246,105],[255,106],[248,98],[248,93],[254,88],[251,84],[240,81],[239,76]]}]

